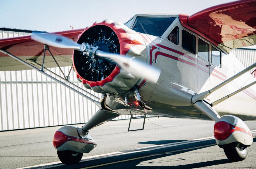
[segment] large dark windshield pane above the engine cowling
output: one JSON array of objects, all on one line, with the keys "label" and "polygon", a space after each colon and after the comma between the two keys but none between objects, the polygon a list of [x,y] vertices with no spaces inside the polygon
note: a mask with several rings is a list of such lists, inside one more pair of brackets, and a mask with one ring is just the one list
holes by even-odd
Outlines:
[{"label": "large dark windshield pane above the engine cowling", "polygon": [[136,32],[162,36],[176,17],[136,17],[131,29]]}]

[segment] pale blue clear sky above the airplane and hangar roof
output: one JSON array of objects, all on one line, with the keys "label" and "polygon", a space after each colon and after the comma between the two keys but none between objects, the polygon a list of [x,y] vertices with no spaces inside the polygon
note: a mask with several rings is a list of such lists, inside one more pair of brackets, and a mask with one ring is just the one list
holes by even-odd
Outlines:
[{"label": "pale blue clear sky above the airplane and hangar roof", "polygon": [[95,21],[126,22],[139,13],[194,14],[233,0],[0,0],[0,27],[62,31],[84,28]]}]

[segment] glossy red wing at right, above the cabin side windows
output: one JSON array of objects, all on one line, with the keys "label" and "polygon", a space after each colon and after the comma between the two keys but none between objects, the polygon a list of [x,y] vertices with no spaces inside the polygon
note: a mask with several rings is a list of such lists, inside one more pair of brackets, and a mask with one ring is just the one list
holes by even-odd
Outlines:
[{"label": "glossy red wing at right, above the cabin side windows", "polygon": [[179,18],[184,27],[226,52],[256,44],[255,0],[229,2]]}]

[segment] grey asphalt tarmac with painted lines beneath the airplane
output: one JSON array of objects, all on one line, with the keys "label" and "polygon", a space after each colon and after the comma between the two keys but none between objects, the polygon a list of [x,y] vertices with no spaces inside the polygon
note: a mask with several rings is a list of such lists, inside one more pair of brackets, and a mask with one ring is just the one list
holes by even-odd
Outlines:
[{"label": "grey asphalt tarmac with painted lines beneath the airplane", "polygon": [[[133,119],[130,129],[142,123]],[[256,168],[256,138],[244,161],[230,163],[213,138],[213,121],[151,117],[144,131],[133,132],[128,124],[110,121],[90,130],[97,147],[75,165],[63,165],[52,145],[60,126],[0,132],[0,168]],[[256,121],[246,124],[255,137]]]}]

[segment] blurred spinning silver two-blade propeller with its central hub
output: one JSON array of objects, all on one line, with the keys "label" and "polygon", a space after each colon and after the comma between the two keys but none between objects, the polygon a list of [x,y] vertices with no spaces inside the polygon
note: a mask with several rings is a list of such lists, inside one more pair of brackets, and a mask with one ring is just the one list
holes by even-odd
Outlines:
[{"label": "blurred spinning silver two-blade propeller with its central hub", "polygon": [[144,78],[152,83],[156,83],[158,81],[161,73],[159,69],[148,66],[142,61],[137,60],[135,57],[103,52],[98,50],[97,47],[89,46],[84,43],[80,45],[67,37],[54,33],[32,33],[31,39],[58,48],[80,50],[91,57],[95,57],[96,55],[98,57],[111,59],[123,70],[131,73],[134,77]]}]

